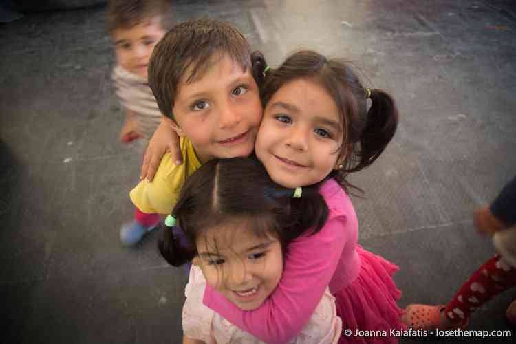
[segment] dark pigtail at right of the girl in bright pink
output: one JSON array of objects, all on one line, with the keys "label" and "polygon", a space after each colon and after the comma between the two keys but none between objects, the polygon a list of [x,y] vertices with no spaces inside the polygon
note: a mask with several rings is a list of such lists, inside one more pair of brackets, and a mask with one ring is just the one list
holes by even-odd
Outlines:
[{"label": "dark pigtail at right of the girl in bright pink", "polygon": [[387,147],[398,127],[398,107],[394,99],[381,89],[369,92],[372,103],[360,136],[358,164],[347,172],[359,171],[372,164]]}]

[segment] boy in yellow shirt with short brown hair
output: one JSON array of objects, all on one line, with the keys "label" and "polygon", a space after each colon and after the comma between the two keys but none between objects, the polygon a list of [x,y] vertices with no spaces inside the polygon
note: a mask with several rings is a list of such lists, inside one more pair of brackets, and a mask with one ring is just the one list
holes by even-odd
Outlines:
[{"label": "boy in yellow shirt with short brown hair", "polygon": [[136,244],[160,214],[170,213],[184,181],[201,164],[252,153],[263,111],[255,78],[263,78],[264,67],[244,35],[219,21],[180,23],[156,45],[149,85],[180,136],[184,163],[164,155],[153,182],[142,180],[131,191],[135,220],[122,226],[122,244]]}]

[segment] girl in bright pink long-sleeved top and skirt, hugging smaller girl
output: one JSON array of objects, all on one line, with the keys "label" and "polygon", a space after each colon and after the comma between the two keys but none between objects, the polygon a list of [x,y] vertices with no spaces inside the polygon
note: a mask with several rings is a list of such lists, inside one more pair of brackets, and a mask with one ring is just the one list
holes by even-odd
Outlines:
[{"label": "girl in bright pink long-sleeved top and skirt, hugging smaller girl", "polygon": [[342,336],[340,343],[396,342],[389,334],[403,327],[400,291],[391,278],[398,268],[357,245],[356,214],[345,193],[352,187],[347,173],[372,164],[394,136],[394,100],[365,89],[345,63],[309,51],[268,71],[262,98],[257,158],[283,187],[318,188],[329,214],[318,233],[290,243],[281,281],[259,308],[243,312],[209,283],[204,305],[261,341],[286,343],[329,286],[343,328],[371,331],[364,338]]}]

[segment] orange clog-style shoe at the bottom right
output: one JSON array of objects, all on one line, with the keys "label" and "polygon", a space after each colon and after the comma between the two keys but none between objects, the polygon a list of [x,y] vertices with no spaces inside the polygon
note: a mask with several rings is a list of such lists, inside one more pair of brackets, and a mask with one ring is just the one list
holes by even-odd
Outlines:
[{"label": "orange clog-style shoe at the bottom right", "polygon": [[464,329],[469,325],[469,319],[463,319],[457,326],[444,327],[441,324],[441,312],[445,308],[444,305],[408,305],[402,316],[402,322],[413,330],[427,331]]}]

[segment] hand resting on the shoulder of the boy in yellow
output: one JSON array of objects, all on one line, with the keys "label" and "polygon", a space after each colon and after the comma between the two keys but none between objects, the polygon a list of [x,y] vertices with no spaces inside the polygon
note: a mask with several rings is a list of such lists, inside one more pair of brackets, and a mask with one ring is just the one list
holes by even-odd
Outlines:
[{"label": "hand resting on the shoulder of the boy in yellow", "polygon": [[178,133],[169,125],[166,120],[162,120],[158,129],[153,133],[151,140],[143,155],[142,171],[140,179],[153,180],[161,158],[164,153],[169,151],[175,164],[182,164],[183,157],[179,145]]}]

